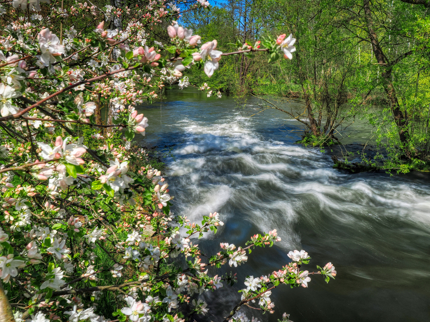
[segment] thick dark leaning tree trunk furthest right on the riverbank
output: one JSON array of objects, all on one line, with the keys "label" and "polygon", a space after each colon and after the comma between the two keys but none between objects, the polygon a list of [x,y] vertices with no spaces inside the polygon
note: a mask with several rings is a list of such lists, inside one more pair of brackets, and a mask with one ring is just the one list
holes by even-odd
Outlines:
[{"label": "thick dark leaning tree trunk furthest right on the riverbank", "polygon": [[384,68],[385,71],[381,74],[384,79],[383,85],[387,93],[388,101],[390,102],[391,112],[393,113],[394,122],[396,122],[399,138],[402,143],[407,143],[409,140],[409,133],[407,129],[408,120],[400,110],[399,101],[397,100],[396,91],[394,90],[391,71],[392,66],[385,59],[384,52],[379,44],[378,36],[373,29],[372,11],[370,10],[370,0],[363,0],[365,20],[369,32],[370,41],[372,43],[372,51],[375,53],[376,61],[379,66]]}]

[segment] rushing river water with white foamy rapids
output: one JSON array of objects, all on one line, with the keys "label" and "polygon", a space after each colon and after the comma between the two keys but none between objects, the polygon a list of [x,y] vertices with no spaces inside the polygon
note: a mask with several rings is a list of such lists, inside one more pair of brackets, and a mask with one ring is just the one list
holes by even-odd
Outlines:
[{"label": "rushing river water with white foamy rapids", "polygon": [[[138,111],[149,119],[146,144],[170,147],[175,157],[166,158],[175,214],[197,222],[217,211],[225,223],[193,243],[213,254],[220,242],[244,246],[273,228],[282,238],[255,249],[240,267],[224,265],[238,283],[202,295],[207,320],[220,321],[240,301],[247,275],[269,275],[290,261],[290,250],[304,249],[312,258],[304,269],[331,261],[336,279],[326,284],[312,276],[307,289],[279,286],[270,297],[275,313],[244,308],[249,318],[275,322],[287,312],[294,322],[430,321],[427,174],[335,170],[330,155],[294,144],[299,122],[279,127],[286,115],[277,111],[244,118],[232,97],[172,90],[161,104]],[[365,131],[355,131],[362,143]]]}]

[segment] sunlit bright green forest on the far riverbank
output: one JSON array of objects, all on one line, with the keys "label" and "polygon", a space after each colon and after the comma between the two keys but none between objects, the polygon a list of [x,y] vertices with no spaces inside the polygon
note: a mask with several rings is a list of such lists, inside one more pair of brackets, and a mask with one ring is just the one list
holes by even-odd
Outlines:
[{"label": "sunlit bright green forest on the far riverbank", "polygon": [[[425,1],[273,1],[230,0],[209,10],[184,12],[181,22],[202,36],[218,39],[219,50],[239,41],[291,32],[297,52],[289,60],[268,62],[264,53],[223,57],[218,73],[184,71],[193,84],[247,95],[261,103],[243,112],[276,108],[303,123],[302,143],[337,143],[338,130],[359,118],[372,129],[369,145],[378,154],[370,167],[402,172],[429,165],[429,5]],[[235,44],[235,45],[233,45]],[[301,111],[288,108],[291,98]],[[249,104],[248,104],[249,105]],[[374,107],[377,108],[374,108]]]}]

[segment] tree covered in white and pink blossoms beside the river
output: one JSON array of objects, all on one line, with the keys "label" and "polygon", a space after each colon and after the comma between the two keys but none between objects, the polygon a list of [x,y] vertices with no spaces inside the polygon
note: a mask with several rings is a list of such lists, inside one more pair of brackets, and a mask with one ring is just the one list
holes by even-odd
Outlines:
[{"label": "tree covered in white and pink blossoms beside the river", "polygon": [[[205,259],[194,240],[216,233],[220,215],[210,213],[201,223],[173,215],[160,171],[133,166],[146,155],[130,149],[131,142],[148,126],[135,106],[157,98],[164,82],[191,86],[182,77],[190,64],[210,77],[223,55],[264,51],[269,61],[279,53],[292,59],[295,39],[238,42],[235,51],[222,53],[216,40],[200,46],[200,36],[176,22],[180,10],[173,3],[65,9],[40,2],[47,4],[13,0],[0,7],[6,21],[0,36],[0,321],[183,322],[207,313],[199,295],[236,282],[235,274],[213,275],[208,268],[237,267],[252,249],[280,238],[274,229],[243,246],[221,243]],[[185,9],[208,5],[199,0]],[[67,28],[67,18],[87,19],[90,30]],[[114,19],[121,30],[105,27]],[[170,43],[147,46],[162,23],[169,24]],[[52,32],[58,24],[60,37]],[[207,84],[200,89],[221,97]],[[112,123],[101,122],[103,102],[111,106]],[[178,256],[184,266],[166,265]],[[327,282],[336,275],[331,263],[301,270],[310,259],[303,250],[289,258],[277,272],[248,276],[237,305],[220,319],[248,321],[240,308],[249,302],[273,313],[270,294],[280,284],[307,287],[311,274]],[[107,293],[118,305],[116,318],[98,310]]]}]

